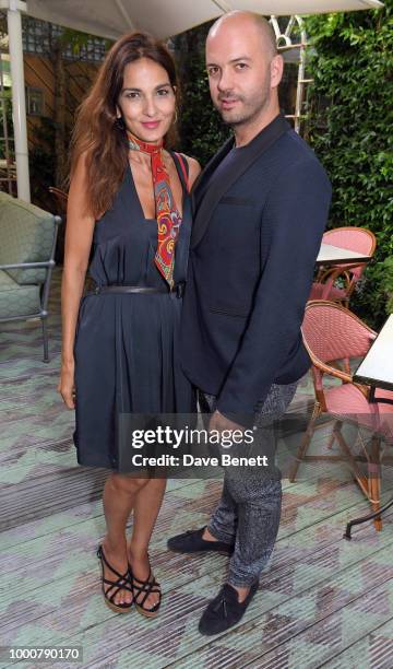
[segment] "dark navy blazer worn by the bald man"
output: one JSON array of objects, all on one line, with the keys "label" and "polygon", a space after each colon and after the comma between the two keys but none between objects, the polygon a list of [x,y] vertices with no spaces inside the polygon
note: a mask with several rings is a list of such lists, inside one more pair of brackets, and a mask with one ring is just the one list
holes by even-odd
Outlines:
[{"label": "dark navy blazer worn by the bald man", "polygon": [[296,382],[310,366],[300,326],[331,186],[281,115],[213,183],[233,146],[195,185],[180,355],[190,380],[241,422],[273,383]]}]

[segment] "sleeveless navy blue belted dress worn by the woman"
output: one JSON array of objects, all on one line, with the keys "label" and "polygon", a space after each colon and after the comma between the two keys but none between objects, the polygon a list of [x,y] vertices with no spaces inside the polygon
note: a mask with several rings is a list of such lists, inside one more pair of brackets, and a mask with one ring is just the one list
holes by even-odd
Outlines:
[{"label": "sleeveless navy blue belted dress worn by the woman", "polygon": [[[175,283],[186,281],[191,199],[182,185],[182,223],[176,245]],[[163,287],[154,263],[157,222],[145,219],[128,166],[114,204],[97,221],[90,274],[98,285]],[[121,471],[121,414],[194,413],[193,389],[179,363],[182,300],[175,293],[87,294],[76,327],[75,432],[80,465]]]}]

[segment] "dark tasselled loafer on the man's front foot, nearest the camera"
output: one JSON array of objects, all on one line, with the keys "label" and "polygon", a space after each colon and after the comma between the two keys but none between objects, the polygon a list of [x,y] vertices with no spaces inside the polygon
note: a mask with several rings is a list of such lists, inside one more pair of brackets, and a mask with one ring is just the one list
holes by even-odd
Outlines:
[{"label": "dark tasselled loafer on the man's front foot, nearest the camera", "polygon": [[205,636],[225,632],[238,623],[247,611],[247,607],[258,590],[258,580],[241,603],[233,586],[226,583],[207,608],[204,610],[199,623],[199,631]]}]

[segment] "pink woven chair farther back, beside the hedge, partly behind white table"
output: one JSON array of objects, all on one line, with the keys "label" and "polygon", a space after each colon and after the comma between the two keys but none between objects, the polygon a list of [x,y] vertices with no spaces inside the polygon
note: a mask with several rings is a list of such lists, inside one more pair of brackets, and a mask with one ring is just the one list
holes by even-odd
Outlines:
[{"label": "pink woven chair farther back, beside the hedge, partly behind white table", "polygon": [[[324,233],[322,242],[348,248],[373,256],[377,239],[371,231],[366,227],[336,227]],[[350,296],[359,281],[366,263],[361,265],[334,265],[327,269],[321,268],[317,281],[312,284],[309,300],[330,300],[338,302],[348,307]],[[337,285],[337,279],[343,285]]]}]

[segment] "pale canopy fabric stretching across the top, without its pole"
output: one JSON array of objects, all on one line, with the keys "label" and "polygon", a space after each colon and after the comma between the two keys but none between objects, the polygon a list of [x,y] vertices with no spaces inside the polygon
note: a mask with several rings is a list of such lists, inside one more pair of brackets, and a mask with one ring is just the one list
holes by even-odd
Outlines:
[{"label": "pale canopy fabric stretching across the top, without its pole", "polygon": [[380,7],[378,0],[27,0],[32,16],[108,38],[131,30],[169,37],[234,9],[290,16]]}]

